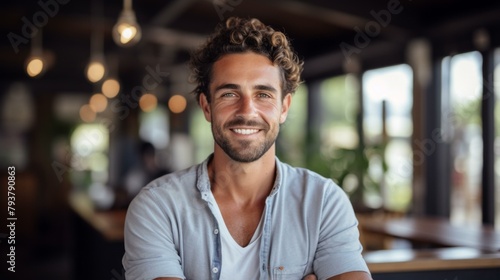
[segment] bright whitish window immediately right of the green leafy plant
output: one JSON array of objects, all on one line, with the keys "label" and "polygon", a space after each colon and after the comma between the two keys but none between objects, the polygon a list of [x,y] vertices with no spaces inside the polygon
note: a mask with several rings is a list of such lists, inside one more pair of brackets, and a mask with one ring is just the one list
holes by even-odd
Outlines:
[{"label": "bright whitish window immediately right of the green leafy plant", "polygon": [[396,65],[363,75],[363,129],[368,175],[379,193],[368,199],[392,211],[406,211],[412,191],[412,71]]}]

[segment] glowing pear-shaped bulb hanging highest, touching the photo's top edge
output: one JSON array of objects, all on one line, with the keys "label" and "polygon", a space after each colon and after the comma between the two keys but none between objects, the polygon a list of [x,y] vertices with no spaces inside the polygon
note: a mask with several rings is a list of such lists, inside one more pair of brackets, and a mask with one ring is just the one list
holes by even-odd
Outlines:
[{"label": "glowing pear-shaped bulb hanging highest, touching the photo's top edge", "polygon": [[132,0],[123,0],[123,10],[113,26],[113,40],[122,47],[135,45],[141,40],[141,27],[137,24],[132,9]]}]

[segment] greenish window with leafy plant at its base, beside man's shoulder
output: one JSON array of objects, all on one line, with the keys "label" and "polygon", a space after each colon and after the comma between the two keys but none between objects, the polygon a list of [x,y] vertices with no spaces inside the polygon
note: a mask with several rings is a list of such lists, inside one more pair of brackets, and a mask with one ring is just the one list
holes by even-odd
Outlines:
[{"label": "greenish window with leafy plant at its base, beside man's shoulder", "polygon": [[[325,175],[339,184],[357,208],[364,206],[366,180],[361,182],[366,168],[359,150],[357,115],[359,112],[359,81],[353,75],[324,80],[320,84],[320,157],[326,167],[317,165]],[[365,177],[366,179],[366,177]]]}]

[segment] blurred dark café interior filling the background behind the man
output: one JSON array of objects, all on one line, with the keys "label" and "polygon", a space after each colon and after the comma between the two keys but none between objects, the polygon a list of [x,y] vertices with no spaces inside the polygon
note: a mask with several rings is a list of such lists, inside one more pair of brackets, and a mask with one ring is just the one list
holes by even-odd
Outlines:
[{"label": "blurred dark caf\u00e9 interior filling the background behind the man", "polygon": [[1,279],[124,279],[130,200],[213,150],[187,61],[230,16],[283,31],[305,61],[277,153],[346,191],[374,279],[498,279],[489,0],[2,2],[0,219],[15,167],[17,222],[15,273],[0,229]]}]

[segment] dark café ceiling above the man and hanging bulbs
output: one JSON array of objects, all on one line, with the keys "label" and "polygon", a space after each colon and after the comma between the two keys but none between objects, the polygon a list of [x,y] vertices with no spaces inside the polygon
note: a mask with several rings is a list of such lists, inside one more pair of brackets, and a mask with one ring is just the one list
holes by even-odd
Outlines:
[{"label": "dark caf\u00e9 ceiling above the man and hanging bulbs", "polygon": [[[52,15],[39,3],[51,3]],[[341,71],[345,46],[357,48],[364,68],[401,63],[405,45],[419,37],[430,39],[434,55],[473,48],[472,34],[478,29],[487,30],[491,44],[500,46],[497,0],[141,0],[134,1],[133,8],[143,38],[131,48],[120,48],[111,39],[123,5],[120,0],[18,0],[0,5],[0,80],[3,85],[29,81],[40,92],[92,91],[84,69],[91,34],[99,29],[109,64],[129,87],[140,82],[148,66],[169,73],[185,67],[190,50],[230,16],[256,17],[285,32],[306,62],[306,80]],[[33,41],[23,35],[27,21],[42,21],[43,49],[52,61],[36,79],[23,70]],[[361,41],[360,30],[364,36],[372,31],[365,37],[368,41]],[[10,41],[13,34],[24,38],[17,46]]]}]

